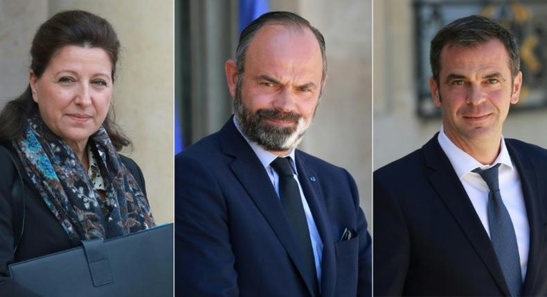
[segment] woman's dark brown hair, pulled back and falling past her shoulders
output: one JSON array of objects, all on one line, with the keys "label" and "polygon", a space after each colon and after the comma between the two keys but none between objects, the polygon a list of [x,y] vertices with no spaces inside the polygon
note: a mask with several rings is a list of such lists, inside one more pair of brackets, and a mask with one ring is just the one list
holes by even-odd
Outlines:
[{"label": "woman's dark brown hair, pulled back and falling past her shoulders", "polygon": [[[42,77],[55,53],[64,46],[105,50],[110,57],[114,83],[120,41],[106,19],[82,10],[69,10],[58,12],[43,23],[38,28],[30,48],[30,70],[36,77]],[[29,85],[23,94],[8,102],[0,112],[0,142],[10,141],[24,133],[26,119],[37,111],[38,105],[33,100]],[[114,122],[114,118],[114,108],[111,105],[102,126],[105,127],[116,150],[120,151],[132,143]]]}]

